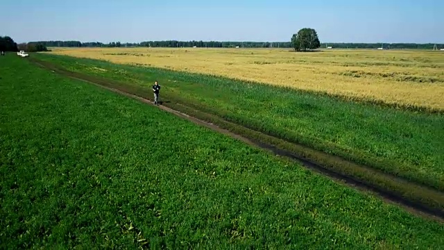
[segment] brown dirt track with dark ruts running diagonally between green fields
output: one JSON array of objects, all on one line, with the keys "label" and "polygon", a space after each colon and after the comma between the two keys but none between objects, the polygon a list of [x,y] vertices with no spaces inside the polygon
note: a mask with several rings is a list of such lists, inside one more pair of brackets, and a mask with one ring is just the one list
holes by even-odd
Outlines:
[{"label": "brown dirt track with dark ruts running diagonally between green fields", "polygon": [[[56,65],[35,58],[32,58],[31,62],[44,69],[49,69],[54,73],[91,83],[112,92],[125,95],[126,97],[131,97],[153,105],[153,101],[150,99],[132,94],[131,91],[128,91],[128,88],[115,88],[116,86],[112,85],[108,80],[99,80],[94,76],[69,72],[66,69],[60,69]],[[259,131],[246,128],[245,126],[225,121],[216,115],[190,108],[183,103],[167,102],[165,105],[166,106],[162,105],[158,107],[199,126],[205,126],[213,131],[241,140],[251,146],[265,149],[268,152],[274,153],[276,156],[296,160],[308,169],[315,170],[318,173],[350,185],[353,188],[376,194],[385,201],[397,203],[413,213],[432,217],[444,222],[444,195],[438,190],[431,190],[423,185],[384,174],[376,169],[357,165],[356,163],[336,156],[330,156],[327,153],[316,151],[315,149],[309,149],[299,144],[266,135]]]}]

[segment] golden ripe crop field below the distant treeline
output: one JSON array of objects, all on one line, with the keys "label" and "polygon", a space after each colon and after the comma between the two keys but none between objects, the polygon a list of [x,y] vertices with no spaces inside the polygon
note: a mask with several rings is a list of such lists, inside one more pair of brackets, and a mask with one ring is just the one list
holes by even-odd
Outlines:
[{"label": "golden ripe crop field below the distant treeline", "polygon": [[444,110],[443,51],[51,48],[49,53],[214,74]]}]

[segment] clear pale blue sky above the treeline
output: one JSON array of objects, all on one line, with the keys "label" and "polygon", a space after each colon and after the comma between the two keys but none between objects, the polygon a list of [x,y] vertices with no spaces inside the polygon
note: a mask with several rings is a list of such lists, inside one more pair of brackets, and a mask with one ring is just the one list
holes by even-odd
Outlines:
[{"label": "clear pale blue sky above the treeline", "polygon": [[16,42],[79,40],[444,43],[444,0],[2,0],[0,35]]}]

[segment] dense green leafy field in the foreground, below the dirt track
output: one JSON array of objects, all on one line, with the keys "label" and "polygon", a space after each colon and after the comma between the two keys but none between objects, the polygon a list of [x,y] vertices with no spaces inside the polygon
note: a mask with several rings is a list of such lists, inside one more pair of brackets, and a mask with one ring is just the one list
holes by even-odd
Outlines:
[{"label": "dense green leafy field in the foreground, below the dirt track", "polygon": [[0,69],[2,249],[444,245],[438,222],[155,107],[14,55]]}]

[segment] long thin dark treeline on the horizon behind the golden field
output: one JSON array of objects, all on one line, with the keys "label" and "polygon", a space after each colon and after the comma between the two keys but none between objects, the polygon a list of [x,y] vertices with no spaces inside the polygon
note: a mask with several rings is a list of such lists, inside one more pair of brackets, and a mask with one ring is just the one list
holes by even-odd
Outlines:
[{"label": "long thin dark treeline on the horizon behind the golden field", "polygon": [[[79,41],[38,41],[46,47],[208,47],[208,48],[292,48],[291,42],[204,42],[204,41],[146,41],[139,43],[122,42],[79,42]],[[321,43],[321,48],[333,49],[433,49],[435,44],[414,43]],[[444,49],[444,44],[436,44],[438,49]]]}]

